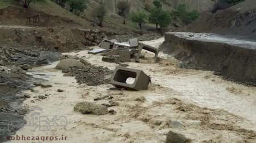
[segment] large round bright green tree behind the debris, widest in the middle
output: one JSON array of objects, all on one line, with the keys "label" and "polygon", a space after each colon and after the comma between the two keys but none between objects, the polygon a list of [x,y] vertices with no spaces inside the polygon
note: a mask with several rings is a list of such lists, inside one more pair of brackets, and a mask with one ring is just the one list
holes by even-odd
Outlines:
[{"label": "large round bright green tree behind the debris, widest in the middle", "polygon": [[154,8],[150,11],[148,22],[155,24],[156,29],[158,29],[158,26],[160,27],[168,26],[171,23],[171,21],[172,21],[171,15],[167,11],[164,11],[160,8]]}]

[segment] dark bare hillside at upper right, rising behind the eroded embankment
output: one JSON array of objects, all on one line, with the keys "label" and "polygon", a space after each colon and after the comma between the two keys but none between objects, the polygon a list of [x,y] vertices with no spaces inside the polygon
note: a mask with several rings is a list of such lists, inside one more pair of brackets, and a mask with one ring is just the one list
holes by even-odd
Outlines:
[{"label": "dark bare hillside at upper right, rising behind the eroded embankment", "polygon": [[204,12],[187,27],[192,32],[214,32],[239,38],[256,39],[256,1],[245,0],[226,10]]}]

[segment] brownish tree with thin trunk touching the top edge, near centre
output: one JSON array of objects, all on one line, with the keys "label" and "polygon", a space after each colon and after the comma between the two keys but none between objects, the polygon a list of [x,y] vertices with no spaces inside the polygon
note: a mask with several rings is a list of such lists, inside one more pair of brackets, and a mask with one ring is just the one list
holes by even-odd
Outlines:
[{"label": "brownish tree with thin trunk touching the top edge, near centre", "polygon": [[124,18],[123,24],[126,24],[126,18],[129,15],[131,5],[127,1],[120,1],[117,4],[118,14]]}]

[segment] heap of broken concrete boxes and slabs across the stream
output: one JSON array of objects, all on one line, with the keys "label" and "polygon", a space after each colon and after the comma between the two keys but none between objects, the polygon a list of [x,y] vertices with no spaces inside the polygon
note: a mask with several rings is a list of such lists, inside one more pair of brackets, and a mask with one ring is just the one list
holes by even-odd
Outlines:
[{"label": "heap of broken concrete boxes and slabs across the stream", "polygon": [[[88,54],[101,54],[102,61],[106,62],[140,62],[142,49],[155,53],[155,62],[157,61],[159,50],[157,47],[152,47],[138,42],[137,38],[130,39],[127,42],[119,42],[116,39],[104,39],[99,44],[98,49],[88,51]],[[135,60],[132,60],[134,58]],[[118,59],[118,60],[116,60]]]}]

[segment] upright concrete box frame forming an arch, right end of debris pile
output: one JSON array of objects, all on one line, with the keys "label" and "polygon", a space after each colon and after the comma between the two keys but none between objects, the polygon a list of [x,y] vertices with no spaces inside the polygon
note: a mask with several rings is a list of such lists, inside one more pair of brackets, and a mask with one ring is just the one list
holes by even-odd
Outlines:
[{"label": "upright concrete box frame forming an arch, right end of debris pile", "polygon": [[159,49],[158,48],[140,43],[140,46],[139,46],[138,49],[139,49],[139,52],[138,52],[137,57],[136,57],[136,62],[140,62],[140,54],[141,54],[142,49],[145,49],[145,50],[148,50],[150,52],[155,53],[155,62],[157,61],[158,54],[159,54]]}]

